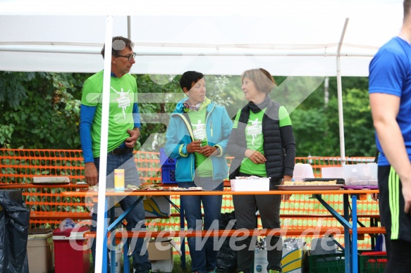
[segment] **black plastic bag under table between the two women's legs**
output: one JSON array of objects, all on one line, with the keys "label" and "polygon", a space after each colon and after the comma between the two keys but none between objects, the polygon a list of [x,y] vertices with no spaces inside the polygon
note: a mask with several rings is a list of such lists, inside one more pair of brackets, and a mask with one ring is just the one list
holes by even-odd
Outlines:
[{"label": "black plastic bag under table between the two women's legs", "polygon": [[[235,212],[221,213],[219,229],[226,229],[231,220],[235,220]],[[233,222],[231,222],[232,224]],[[237,229],[234,224],[231,229]],[[230,237],[227,237],[217,254],[216,272],[237,272],[237,251],[230,247]]]}]

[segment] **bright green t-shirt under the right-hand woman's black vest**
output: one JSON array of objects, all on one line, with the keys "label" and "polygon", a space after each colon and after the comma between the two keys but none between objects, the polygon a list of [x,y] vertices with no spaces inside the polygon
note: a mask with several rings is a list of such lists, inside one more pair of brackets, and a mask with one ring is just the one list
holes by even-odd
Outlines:
[{"label": "bright green t-shirt under the right-hand woman's black vest", "polygon": [[[259,151],[260,153],[262,153],[262,155],[264,155],[262,119],[264,117],[265,111],[266,108],[262,109],[258,113],[253,113],[252,111],[250,111],[250,118],[247,122],[247,126],[245,127],[245,141],[247,142],[247,148],[254,151]],[[239,113],[238,117],[240,115]],[[280,108],[278,109],[278,118],[280,119],[280,127],[291,125],[290,116],[288,115],[288,112],[284,106],[280,106]],[[235,122],[234,126],[235,128],[237,128],[238,120],[237,122]],[[249,158],[243,159],[240,166],[240,172],[243,172],[245,174],[259,175],[260,177],[267,176],[265,164],[255,164]]]}]

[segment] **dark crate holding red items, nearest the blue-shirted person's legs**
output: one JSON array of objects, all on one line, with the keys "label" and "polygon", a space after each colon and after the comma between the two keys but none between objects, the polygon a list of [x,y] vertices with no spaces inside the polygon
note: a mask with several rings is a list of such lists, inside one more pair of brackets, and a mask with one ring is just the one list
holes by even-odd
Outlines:
[{"label": "dark crate holding red items, nearest the blue-shirted person's legs", "polygon": [[387,254],[385,251],[363,252],[358,255],[360,273],[382,273],[386,268]]}]

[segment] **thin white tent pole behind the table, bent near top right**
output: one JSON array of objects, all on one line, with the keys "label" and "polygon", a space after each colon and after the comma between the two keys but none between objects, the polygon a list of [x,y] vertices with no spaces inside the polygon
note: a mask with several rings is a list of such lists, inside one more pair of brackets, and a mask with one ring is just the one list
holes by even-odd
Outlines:
[{"label": "thin white tent pole behind the table, bent near top right", "polygon": [[338,42],[337,49],[337,96],[338,96],[338,125],[340,129],[340,153],[341,153],[341,165],[345,165],[345,140],[344,140],[344,118],[343,118],[343,87],[341,84],[341,46],[343,45],[343,39],[345,30],[347,30],[349,18],[345,18],[343,32],[341,33],[340,42]]}]

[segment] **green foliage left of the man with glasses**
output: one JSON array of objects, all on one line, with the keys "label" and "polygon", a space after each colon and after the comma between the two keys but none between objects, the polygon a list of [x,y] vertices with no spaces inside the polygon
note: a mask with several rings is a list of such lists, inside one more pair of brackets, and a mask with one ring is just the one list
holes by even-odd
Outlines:
[{"label": "green foliage left of the man with glasses", "polygon": [[80,90],[85,77],[0,72],[0,146],[80,148]]}]

